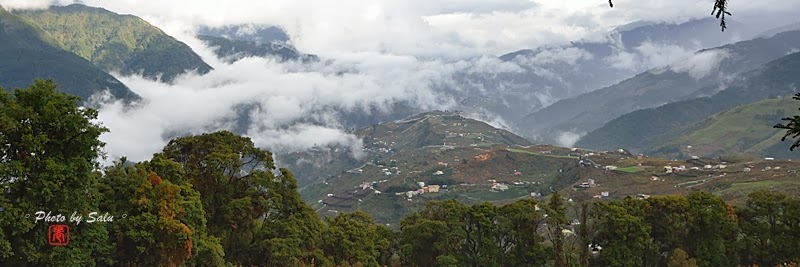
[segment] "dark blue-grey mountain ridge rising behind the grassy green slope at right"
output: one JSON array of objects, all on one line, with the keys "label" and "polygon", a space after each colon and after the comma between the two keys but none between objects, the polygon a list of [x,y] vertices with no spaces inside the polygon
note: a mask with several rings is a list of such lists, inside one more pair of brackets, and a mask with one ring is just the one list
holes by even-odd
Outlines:
[{"label": "dark blue-grey mountain ridge rising behind the grassy green slope at right", "polygon": [[[792,34],[797,33],[794,32]],[[741,76],[741,82],[731,84],[725,90],[712,96],[677,101],[620,116],[581,138],[575,145],[587,148],[626,147],[648,153],[670,154],[680,152],[680,145],[703,144],[704,141],[701,140],[707,139],[694,140],[686,138],[706,135],[702,134],[704,132],[702,128],[715,124],[713,122],[702,122],[706,117],[740,105],[747,105],[764,99],[787,97],[800,92],[797,86],[800,84],[800,52],[773,60]],[[753,109],[752,107],[745,108],[745,110],[759,111],[759,109]],[[736,114],[736,112],[725,114],[729,116],[730,114]],[[759,111],[747,116],[755,117],[759,115],[764,115],[764,113]],[[725,117],[725,115],[717,115],[717,117]],[[757,127],[757,125],[761,124],[774,125],[780,122],[774,116],[760,116],[760,118],[760,122],[748,127]],[[743,120],[739,123],[747,124],[748,122],[752,122],[752,119],[748,118],[748,120]],[[701,125],[693,125],[695,123],[701,123]],[[721,130],[719,127],[715,128],[717,131]],[[760,151],[753,149],[756,143],[759,143],[756,141],[763,141],[765,139],[763,138],[764,136],[772,136],[775,131],[746,133],[744,136],[737,136],[733,129],[730,129],[728,133],[717,132],[717,136],[711,137],[718,142],[729,140],[731,142],[730,145],[736,143],[739,148],[726,150],[723,146],[723,149],[712,149],[713,151],[709,151],[709,153],[744,151],[771,151],[774,153],[777,151],[776,147],[766,145],[766,143],[759,145],[761,147]],[[753,137],[753,134],[756,137]],[[742,142],[743,138],[747,138],[747,142]],[[741,143],[737,143],[737,140]],[[679,145],[678,143],[682,144]],[[777,145],[780,147],[780,145],[785,144]]]}]

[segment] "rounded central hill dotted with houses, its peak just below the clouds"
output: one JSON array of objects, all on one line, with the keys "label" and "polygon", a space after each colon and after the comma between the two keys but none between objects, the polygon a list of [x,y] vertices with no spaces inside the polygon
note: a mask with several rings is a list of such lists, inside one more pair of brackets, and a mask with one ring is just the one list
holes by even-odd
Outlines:
[{"label": "rounded central hill dotted with houses, its peak just below the clouds", "polygon": [[[328,210],[360,209],[379,222],[397,223],[431,199],[506,201],[576,181],[570,170],[577,167],[578,158],[570,156],[569,149],[531,146],[519,136],[460,113],[423,113],[353,134],[364,144],[357,159],[341,147],[278,157],[295,173],[303,198],[323,215],[334,214]],[[493,192],[488,180],[510,188]],[[418,182],[450,188],[413,201],[395,195],[420,189]]]}]

